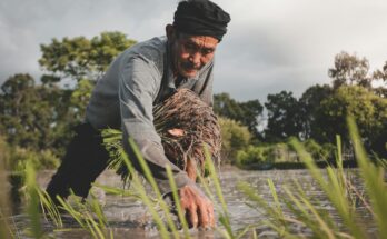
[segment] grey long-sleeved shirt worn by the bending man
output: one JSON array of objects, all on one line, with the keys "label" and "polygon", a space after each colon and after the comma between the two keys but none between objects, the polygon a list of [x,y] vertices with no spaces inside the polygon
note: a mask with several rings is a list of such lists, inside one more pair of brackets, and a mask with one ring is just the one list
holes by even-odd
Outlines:
[{"label": "grey long-sleeved shirt worn by the bending man", "polygon": [[[196,78],[183,79],[178,88],[191,89],[211,106],[212,67],[214,62],[208,62]],[[191,182],[185,171],[167,159],[153,126],[153,104],[175,89],[167,39],[153,38],[132,46],[116,58],[97,82],[86,110],[86,120],[96,129],[122,129],[127,152],[130,151],[128,137],[133,138],[162,193],[170,191],[166,165],[171,166],[179,188]]]}]

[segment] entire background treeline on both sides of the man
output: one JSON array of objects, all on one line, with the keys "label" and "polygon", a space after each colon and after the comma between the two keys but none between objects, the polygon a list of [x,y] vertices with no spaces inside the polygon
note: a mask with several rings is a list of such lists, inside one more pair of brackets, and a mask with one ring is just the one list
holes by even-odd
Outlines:
[{"label": "entire background treeline on both sides of the man", "polygon": [[[71,137],[70,129],[83,120],[96,79],[118,53],[135,43],[123,33],[102,32],[92,39],[52,39],[41,44],[41,79],[18,73],[1,86],[0,140],[7,143],[10,165],[17,168],[18,161],[29,156],[37,165],[54,167]],[[286,142],[289,137],[322,146],[335,143],[340,135],[350,147],[345,118],[353,114],[367,149],[386,158],[387,61],[383,69],[369,72],[367,59],[341,52],[328,72],[331,86],[312,86],[299,99],[281,91],[268,94],[262,104],[259,100],[238,102],[228,93],[215,94],[225,155],[232,159],[238,150]],[[73,87],[64,86],[69,81]],[[381,82],[379,87],[375,87],[376,81]],[[265,120],[264,108],[268,112]],[[258,130],[264,121],[267,126]]]}]

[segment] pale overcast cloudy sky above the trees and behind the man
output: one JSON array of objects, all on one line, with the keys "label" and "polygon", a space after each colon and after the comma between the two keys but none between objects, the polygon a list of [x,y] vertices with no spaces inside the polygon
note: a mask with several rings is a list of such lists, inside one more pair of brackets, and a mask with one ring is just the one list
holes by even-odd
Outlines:
[{"label": "pale overcast cloudy sky above the trees and behind the man", "polygon": [[[40,43],[121,31],[141,41],[161,36],[178,0],[1,0],[0,83],[23,72],[39,78]],[[231,16],[216,56],[215,92],[238,100],[281,90],[299,97],[329,83],[340,51],[387,61],[386,0],[215,0]]]}]

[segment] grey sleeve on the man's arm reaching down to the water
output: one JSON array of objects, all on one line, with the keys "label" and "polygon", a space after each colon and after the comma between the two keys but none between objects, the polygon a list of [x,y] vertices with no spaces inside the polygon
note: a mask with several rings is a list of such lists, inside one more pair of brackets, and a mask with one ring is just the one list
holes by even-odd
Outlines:
[{"label": "grey sleeve on the man's arm reaching down to the water", "polygon": [[170,187],[166,165],[171,167],[178,188],[190,183],[190,179],[165,156],[161,139],[153,126],[152,102],[160,82],[156,67],[141,56],[128,59],[120,68],[119,100],[123,148],[136,169],[142,172],[129,146],[128,138],[131,137],[148,162],[160,191],[167,193]]}]

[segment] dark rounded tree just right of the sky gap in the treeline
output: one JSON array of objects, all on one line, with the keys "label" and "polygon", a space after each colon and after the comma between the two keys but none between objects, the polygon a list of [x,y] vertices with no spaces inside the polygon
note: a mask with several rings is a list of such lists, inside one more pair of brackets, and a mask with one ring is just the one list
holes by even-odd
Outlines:
[{"label": "dark rounded tree just right of the sky gap in the treeline", "polygon": [[265,107],[268,111],[268,125],[265,138],[269,141],[284,140],[301,132],[300,104],[291,92],[281,91],[268,94]]}]

